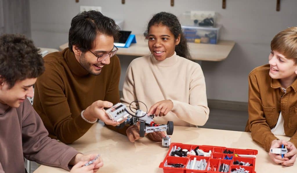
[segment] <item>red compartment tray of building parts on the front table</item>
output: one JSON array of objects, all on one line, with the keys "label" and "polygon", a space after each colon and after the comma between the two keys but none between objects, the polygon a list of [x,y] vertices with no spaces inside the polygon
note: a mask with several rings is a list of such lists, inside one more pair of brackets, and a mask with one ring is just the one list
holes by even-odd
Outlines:
[{"label": "red compartment tray of building parts on the front table", "polygon": [[[181,149],[187,149],[188,151],[194,150],[197,146],[199,146],[199,149],[203,150],[204,152],[209,152],[211,150],[211,154],[209,157],[205,156],[197,156],[197,155],[187,155],[187,157],[178,157],[178,156],[171,156],[171,152],[173,151],[174,146],[176,148],[181,147]],[[230,150],[233,152],[233,154],[227,154],[223,153],[224,150]],[[244,168],[245,170],[249,171],[249,173],[256,173],[255,172],[255,162],[256,158],[249,158],[249,157],[235,157],[235,154],[244,154],[244,155],[257,155],[257,150],[251,150],[251,149],[236,149],[236,148],[227,148],[227,147],[217,147],[217,146],[210,146],[210,145],[189,145],[189,144],[182,144],[182,143],[171,143],[168,153],[166,154],[166,157],[163,162],[160,163],[159,168],[162,168],[164,173],[218,173],[219,169],[216,169],[216,171],[208,171],[207,168],[210,166],[217,166],[217,168],[221,164],[228,164],[229,167],[229,173],[232,169],[236,169],[239,167]],[[229,158],[232,156],[233,158],[231,160],[224,159],[225,156],[228,156]],[[200,159],[206,160],[206,168],[205,170],[195,170],[195,169],[187,169],[188,163],[193,160],[194,158],[197,159],[197,161],[200,161]],[[234,165],[234,161],[243,161],[243,162],[249,162],[249,164],[252,164],[252,166],[243,166],[243,165]],[[183,168],[175,168],[175,167],[167,167],[166,165],[169,164],[183,164]]]}]

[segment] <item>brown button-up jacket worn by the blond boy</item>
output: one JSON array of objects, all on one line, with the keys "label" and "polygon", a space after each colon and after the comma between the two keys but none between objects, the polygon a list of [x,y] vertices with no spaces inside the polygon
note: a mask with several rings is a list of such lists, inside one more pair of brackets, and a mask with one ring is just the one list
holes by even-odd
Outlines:
[{"label": "brown button-up jacket worn by the blond boy", "polygon": [[245,131],[252,132],[252,139],[266,151],[278,139],[271,133],[280,112],[284,118],[285,134],[297,146],[297,80],[285,93],[279,80],[269,76],[269,64],[259,66],[249,74],[249,119]]}]

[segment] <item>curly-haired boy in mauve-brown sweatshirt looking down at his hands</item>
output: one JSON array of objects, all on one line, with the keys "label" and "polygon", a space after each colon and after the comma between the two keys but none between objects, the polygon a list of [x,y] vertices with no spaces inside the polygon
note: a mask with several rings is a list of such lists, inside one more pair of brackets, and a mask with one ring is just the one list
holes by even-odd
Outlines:
[{"label": "curly-haired boy in mauve-brown sweatshirt looking down at his hands", "polygon": [[48,137],[42,120],[27,97],[33,97],[36,78],[44,72],[42,56],[25,36],[0,36],[0,173],[26,172],[24,157],[39,164],[71,172],[96,172],[101,158],[83,166],[97,154],[83,155]]}]

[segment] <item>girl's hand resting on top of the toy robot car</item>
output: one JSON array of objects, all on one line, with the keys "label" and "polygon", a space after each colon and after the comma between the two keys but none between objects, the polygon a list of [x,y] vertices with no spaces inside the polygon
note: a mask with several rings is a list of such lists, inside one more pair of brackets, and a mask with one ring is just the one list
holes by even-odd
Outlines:
[{"label": "girl's hand resting on top of the toy robot car", "polygon": [[148,115],[155,114],[156,117],[159,115],[165,116],[173,109],[173,102],[171,100],[163,100],[155,103],[149,109]]}]

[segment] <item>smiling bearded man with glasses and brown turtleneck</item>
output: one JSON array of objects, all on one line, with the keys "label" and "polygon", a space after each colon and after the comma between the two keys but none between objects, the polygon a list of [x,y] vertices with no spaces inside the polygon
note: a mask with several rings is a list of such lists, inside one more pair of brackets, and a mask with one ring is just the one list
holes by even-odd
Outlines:
[{"label": "smiling bearded man with glasses and brown turtleneck", "polygon": [[82,12],[71,21],[69,48],[44,57],[33,107],[49,137],[69,144],[98,119],[113,130],[124,121],[110,120],[103,109],[120,101],[121,68],[113,45],[118,36],[114,20],[97,11]]}]

